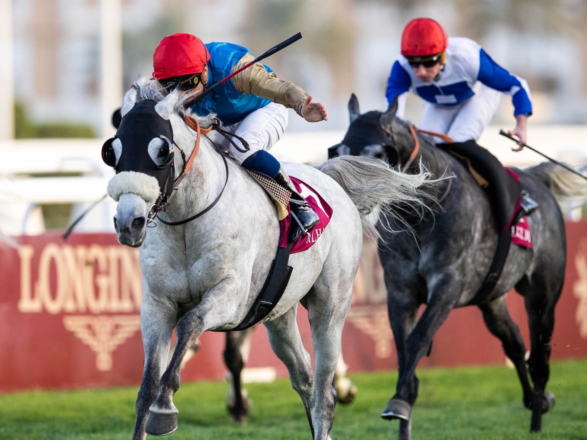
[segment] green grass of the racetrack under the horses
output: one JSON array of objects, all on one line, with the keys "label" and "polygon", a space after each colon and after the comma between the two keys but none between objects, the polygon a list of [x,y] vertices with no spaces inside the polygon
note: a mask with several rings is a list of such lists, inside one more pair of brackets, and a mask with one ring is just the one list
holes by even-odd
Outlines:
[{"label": "green grass of the racetrack under the horses", "polygon": [[[529,434],[530,412],[522,405],[514,370],[507,367],[422,369],[413,410],[417,439],[586,439],[587,360],[557,361],[548,390],[554,409],[542,432]],[[397,421],[379,417],[394,390],[395,372],[350,374],[359,387],[353,404],[337,405],[334,440],[397,438]],[[311,439],[305,412],[288,380],[248,384],[253,405],[238,426],[224,408],[224,383],[182,384],[174,398],[179,427],[170,440]],[[22,392],[0,395],[0,439],[129,439],[138,387]],[[149,437],[153,438],[153,437]]]}]

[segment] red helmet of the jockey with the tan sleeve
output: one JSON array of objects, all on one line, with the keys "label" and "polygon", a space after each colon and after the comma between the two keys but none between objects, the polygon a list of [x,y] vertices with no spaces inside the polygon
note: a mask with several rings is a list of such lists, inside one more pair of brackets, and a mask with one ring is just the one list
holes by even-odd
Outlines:
[{"label": "red helmet of the jockey with the tan sleeve", "polygon": [[197,36],[174,33],[166,36],[153,54],[153,77],[166,79],[174,76],[201,73],[210,61],[210,53]]}]

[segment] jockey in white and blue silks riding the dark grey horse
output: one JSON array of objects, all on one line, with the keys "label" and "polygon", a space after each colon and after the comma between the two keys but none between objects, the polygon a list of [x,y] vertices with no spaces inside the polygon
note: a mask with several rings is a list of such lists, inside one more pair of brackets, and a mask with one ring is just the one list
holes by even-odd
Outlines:
[{"label": "jockey in white and blue silks riding the dark grey horse", "polygon": [[[477,144],[497,111],[501,93],[507,93],[512,96],[516,119],[509,133],[519,138],[514,151],[522,150],[527,119],[532,114],[527,82],[495,63],[473,40],[448,38],[440,23],[430,18],[416,18],[406,25],[401,54],[393,63],[386,89],[389,103],[399,96],[397,116],[403,117],[406,92],[411,90],[424,101],[419,128],[452,138],[455,143],[450,144],[451,150],[474,151],[497,175],[488,180],[501,197],[509,199],[504,202],[506,209],[513,211],[519,203],[522,214],[531,214],[538,207],[536,202],[525,191],[520,199],[519,182],[514,182],[497,158]],[[500,226],[507,226],[509,220],[504,218]]]}]

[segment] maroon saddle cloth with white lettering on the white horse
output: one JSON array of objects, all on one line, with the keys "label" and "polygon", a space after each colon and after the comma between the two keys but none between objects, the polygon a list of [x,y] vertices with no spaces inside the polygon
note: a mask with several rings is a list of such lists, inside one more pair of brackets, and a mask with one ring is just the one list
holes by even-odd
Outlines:
[{"label": "maroon saddle cloth with white lettering on the white horse", "polygon": [[[306,249],[311,248],[312,245],[318,241],[318,238],[320,238],[322,232],[324,232],[324,228],[326,228],[326,225],[328,225],[330,222],[332,208],[330,208],[330,205],[326,203],[322,196],[318,194],[318,192],[316,192],[310,185],[295,177],[290,176],[289,178],[294,183],[294,186],[298,190],[299,194],[301,194],[302,197],[306,199],[306,202],[308,202],[314,212],[318,214],[318,218],[320,219],[318,225],[310,229],[306,235],[302,235],[298,241],[292,245],[291,251],[289,253],[296,253],[306,251]],[[286,218],[279,222],[280,248],[285,248],[285,246],[288,245],[289,225],[291,222],[291,215],[286,216]]]}]

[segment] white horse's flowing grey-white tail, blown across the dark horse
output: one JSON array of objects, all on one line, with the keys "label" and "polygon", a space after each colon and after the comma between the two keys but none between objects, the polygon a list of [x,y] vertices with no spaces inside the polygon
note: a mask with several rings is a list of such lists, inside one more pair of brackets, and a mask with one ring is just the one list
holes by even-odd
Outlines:
[{"label": "white horse's flowing grey-white tail, blown across the dark horse", "polygon": [[[431,180],[430,173],[425,170],[419,174],[406,174],[369,156],[342,155],[316,168],[333,178],[345,190],[359,211],[363,230],[375,236],[379,234],[372,220],[377,220],[382,207],[392,215],[396,224],[403,225],[404,230],[411,232],[405,220],[406,214],[413,217],[416,213],[420,218],[424,215],[429,209],[426,201],[432,199],[424,189],[436,182]],[[381,226],[393,231],[389,222]]]}]

